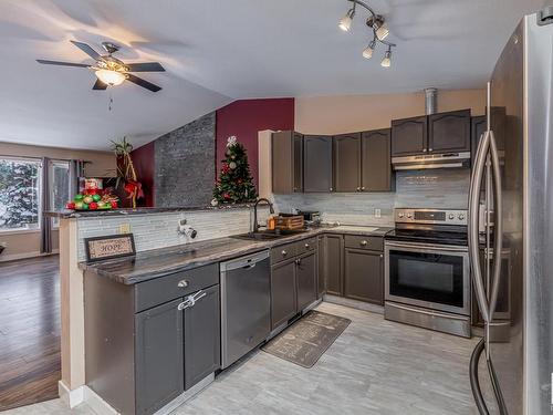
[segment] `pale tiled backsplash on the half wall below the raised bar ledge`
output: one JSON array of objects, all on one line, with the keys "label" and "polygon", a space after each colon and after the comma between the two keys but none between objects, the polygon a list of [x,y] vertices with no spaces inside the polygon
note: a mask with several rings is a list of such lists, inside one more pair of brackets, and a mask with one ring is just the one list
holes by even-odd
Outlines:
[{"label": "pale tiled backsplash on the half wall below the raised bar ledge", "polygon": [[[269,209],[259,207],[259,222],[267,221]],[[177,232],[180,219],[198,231],[195,239]],[[252,208],[195,210],[166,214],[112,216],[77,219],[79,261],[85,260],[84,238],[119,234],[119,225],[128,224],[134,234],[136,251],[173,247],[200,240],[223,238],[250,231]]]}]

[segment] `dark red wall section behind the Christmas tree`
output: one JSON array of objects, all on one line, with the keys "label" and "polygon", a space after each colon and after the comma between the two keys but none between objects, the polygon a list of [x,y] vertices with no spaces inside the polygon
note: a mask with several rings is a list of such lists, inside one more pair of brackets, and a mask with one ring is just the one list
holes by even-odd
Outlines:
[{"label": "dark red wall section behind the Christmas tree", "polygon": [[250,169],[258,184],[258,132],[294,129],[294,98],[239,100],[217,110],[216,172],[225,158],[227,138],[236,135],[248,151]]}]

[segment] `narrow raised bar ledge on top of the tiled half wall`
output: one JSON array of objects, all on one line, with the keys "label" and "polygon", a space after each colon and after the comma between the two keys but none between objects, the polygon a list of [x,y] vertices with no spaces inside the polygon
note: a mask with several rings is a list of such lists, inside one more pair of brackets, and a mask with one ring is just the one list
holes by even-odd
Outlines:
[{"label": "narrow raised bar ledge on top of the tiled half wall", "polygon": [[[213,211],[228,209],[250,209],[253,204],[241,205],[220,205],[220,206],[197,206],[197,207],[166,207],[166,208],[146,208],[139,207],[136,209],[107,209],[107,210],[48,210],[44,212],[50,218],[72,219],[72,218],[95,218],[103,216],[125,216],[125,215],[152,215],[165,214],[171,211]],[[260,209],[267,208],[267,205],[260,205]]]}]

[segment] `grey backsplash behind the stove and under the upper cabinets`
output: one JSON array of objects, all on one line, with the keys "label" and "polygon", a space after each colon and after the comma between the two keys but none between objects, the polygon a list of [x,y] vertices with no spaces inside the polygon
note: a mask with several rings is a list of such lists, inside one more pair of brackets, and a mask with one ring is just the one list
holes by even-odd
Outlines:
[{"label": "grey backsplash behind the stove and under the upper cabinets", "polygon": [[[470,169],[428,169],[396,173],[395,193],[273,195],[276,211],[320,210],[324,221],[394,225],[394,208],[467,209]],[[380,209],[380,218],[375,217]]]}]

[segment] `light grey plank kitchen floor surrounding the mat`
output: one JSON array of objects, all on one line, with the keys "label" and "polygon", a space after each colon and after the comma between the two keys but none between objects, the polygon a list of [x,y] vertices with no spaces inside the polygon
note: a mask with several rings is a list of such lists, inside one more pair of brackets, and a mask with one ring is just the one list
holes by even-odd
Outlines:
[{"label": "light grey plank kitchen floor surrounding the mat", "polygon": [[[173,415],[478,414],[468,374],[478,339],[389,322],[337,304],[317,309],[352,324],[312,369],[255,351]],[[60,405],[55,400],[6,415],[94,414],[85,405],[73,412]]]}]

